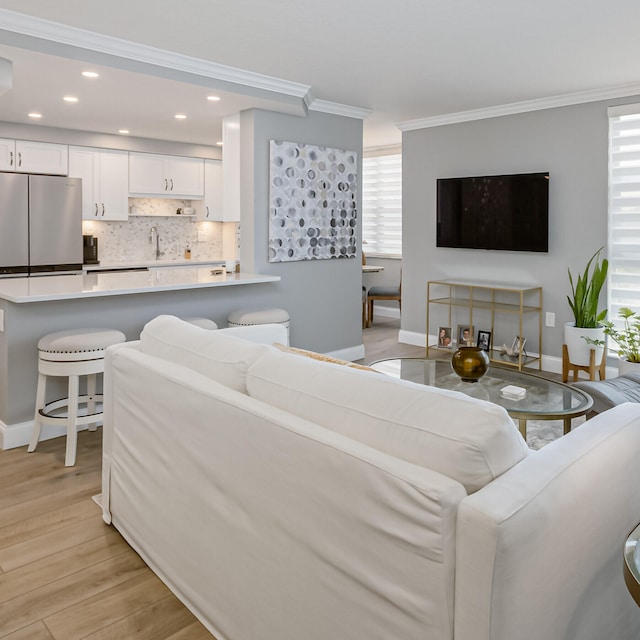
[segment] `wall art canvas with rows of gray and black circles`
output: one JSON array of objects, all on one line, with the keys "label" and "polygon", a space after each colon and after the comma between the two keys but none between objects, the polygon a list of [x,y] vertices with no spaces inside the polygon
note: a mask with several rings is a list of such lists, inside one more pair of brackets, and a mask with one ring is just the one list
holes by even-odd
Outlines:
[{"label": "wall art canvas with rows of gray and black circles", "polygon": [[269,262],[354,258],[358,154],[270,141]]}]

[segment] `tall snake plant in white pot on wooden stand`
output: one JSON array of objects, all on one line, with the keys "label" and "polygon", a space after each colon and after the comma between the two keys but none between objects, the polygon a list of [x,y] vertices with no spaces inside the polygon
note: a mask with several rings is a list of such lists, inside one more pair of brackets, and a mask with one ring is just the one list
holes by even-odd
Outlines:
[{"label": "tall snake plant in white pot on wooden stand", "polygon": [[573,312],[573,322],[568,322],[564,329],[564,341],[569,352],[569,362],[575,365],[589,366],[592,349],[596,350],[596,363],[602,362],[604,356],[605,332],[602,324],[607,310],[598,310],[600,293],[607,280],[609,261],[600,259],[600,247],[581,274],[574,281],[571,271],[569,282],[571,296],[567,296]]}]

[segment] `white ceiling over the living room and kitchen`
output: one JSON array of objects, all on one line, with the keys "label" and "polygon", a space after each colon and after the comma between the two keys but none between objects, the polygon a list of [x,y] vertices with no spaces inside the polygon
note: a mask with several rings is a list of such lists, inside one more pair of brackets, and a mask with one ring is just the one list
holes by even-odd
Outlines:
[{"label": "white ceiling over the living room and kitchen", "polygon": [[[316,99],[372,111],[365,146],[399,142],[395,124],[414,119],[640,93],[638,0],[0,0],[0,9],[308,85]],[[107,67],[89,85],[77,60],[43,55],[0,47],[14,61],[0,119],[25,122],[39,109],[43,125],[213,144],[218,116],[270,107],[231,94],[207,103],[206,87]],[[69,92],[81,101],[63,103]],[[176,123],[178,111],[191,117]]]}]

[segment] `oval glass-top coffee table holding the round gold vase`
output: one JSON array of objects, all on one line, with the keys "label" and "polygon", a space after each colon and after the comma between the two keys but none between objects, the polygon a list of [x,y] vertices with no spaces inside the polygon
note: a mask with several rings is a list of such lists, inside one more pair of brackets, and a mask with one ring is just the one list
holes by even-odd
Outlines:
[{"label": "oval glass-top coffee table holding the round gold vase", "polygon": [[[518,420],[520,433],[527,439],[527,420],[562,420],[564,433],[571,430],[571,419],[585,415],[593,399],[580,389],[548,380],[539,375],[491,364],[478,382],[462,382],[451,368],[451,360],[426,358],[387,358],[369,365],[372,369],[419,384],[488,400],[504,407]],[[514,386],[524,389],[520,399],[505,397],[502,390]]]}]

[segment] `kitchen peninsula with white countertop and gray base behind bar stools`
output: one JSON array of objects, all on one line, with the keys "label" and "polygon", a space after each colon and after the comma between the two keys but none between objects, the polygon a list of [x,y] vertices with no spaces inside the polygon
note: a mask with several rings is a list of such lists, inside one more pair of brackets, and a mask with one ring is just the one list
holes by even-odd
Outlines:
[{"label": "kitchen peninsula with white countertop and gray base behind bar stools", "polygon": [[[176,266],[0,279],[0,446],[9,449],[29,441],[38,341],[48,333],[110,328],[137,340],[144,325],[161,314],[208,318],[225,327],[232,311],[284,306],[280,276],[212,270]],[[53,379],[47,400],[64,397],[65,383]],[[63,433],[62,427],[45,425],[42,437]]]}]

